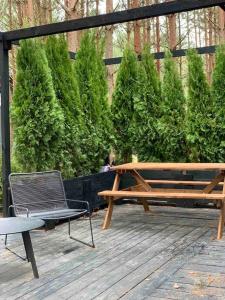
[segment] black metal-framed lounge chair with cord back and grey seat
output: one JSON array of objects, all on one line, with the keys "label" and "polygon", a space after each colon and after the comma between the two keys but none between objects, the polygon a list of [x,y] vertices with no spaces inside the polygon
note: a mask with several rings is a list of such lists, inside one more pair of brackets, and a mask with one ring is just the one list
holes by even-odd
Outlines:
[{"label": "black metal-framed lounge chair with cord back and grey seat", "polygon": [[[91,211],[87,201],[66,199],[59,171],[12,173],[9,176],[12,205],[15,216],[37,217],[44,221],[68,219],[68,234],[73,240],[95,247],[91,223]],[[69,208],[72,202],[85,208]],[[71,236],[71,218],[88,215],[91,244]],[[7,243],[7,236],[5,244]]]}]

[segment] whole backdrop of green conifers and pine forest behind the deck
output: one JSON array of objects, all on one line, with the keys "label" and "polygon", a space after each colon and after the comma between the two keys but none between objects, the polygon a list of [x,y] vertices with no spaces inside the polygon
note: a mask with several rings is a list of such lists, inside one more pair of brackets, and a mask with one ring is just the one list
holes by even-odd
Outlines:
[{"label": "whole backdrop of green conifers and pine forest behind the deck", "polygon": [[[159,2],[2,0],[1,30]],[[13,169],[70,178],[98,172],[112,150],[118,163],[224,161],[224,37],[216,7],[20,42],[10,57]],[[170,52],[208,45],[220,45],[216,55]],[[121,64],[105,66],[115,56]]]}]

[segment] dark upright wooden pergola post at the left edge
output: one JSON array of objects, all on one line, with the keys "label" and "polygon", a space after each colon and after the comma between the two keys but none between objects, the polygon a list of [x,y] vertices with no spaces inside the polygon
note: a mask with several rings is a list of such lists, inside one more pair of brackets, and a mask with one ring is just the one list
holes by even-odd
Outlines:
[{"label": "dark upright wooden pergola post at the left edge", "polygon": [[9,121],[9,50],[11,43],[0,41],[0,78],[1,78],[1,132],[2,132],[2,183],[3,214],[8,215],[10,164],[10,121]]}]

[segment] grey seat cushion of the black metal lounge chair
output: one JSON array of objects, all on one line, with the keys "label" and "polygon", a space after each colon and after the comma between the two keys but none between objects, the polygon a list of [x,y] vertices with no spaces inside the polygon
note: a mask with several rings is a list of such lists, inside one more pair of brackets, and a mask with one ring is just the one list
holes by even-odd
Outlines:
[{"label": "grey seat cushion of the black metal lounge chair", "polygon": [[86,209],[64,208],[64,209],[57,209],[51,211],[42,211],[38,213],[29,213],[29,217],[34,217],[34,218],[36,217],[42,220],[58,220],[58,219],[68,219],[72,217],[82,216],[86,213],[87,213]]}]

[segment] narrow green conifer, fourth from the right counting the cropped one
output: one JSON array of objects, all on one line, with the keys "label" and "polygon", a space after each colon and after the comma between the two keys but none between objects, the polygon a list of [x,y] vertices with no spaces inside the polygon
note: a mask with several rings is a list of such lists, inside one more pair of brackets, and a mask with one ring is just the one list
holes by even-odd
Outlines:
[{"label": "narrow green conifer, fourth from the right counting the cropped one", "polygon": [[161,160],[162,152],[158,133],[161,87],[154,58],[148,47],[142,53],[138,74],[138,96],[134,98],[132,126],[134,149],[140,161],[158,161]]}]

